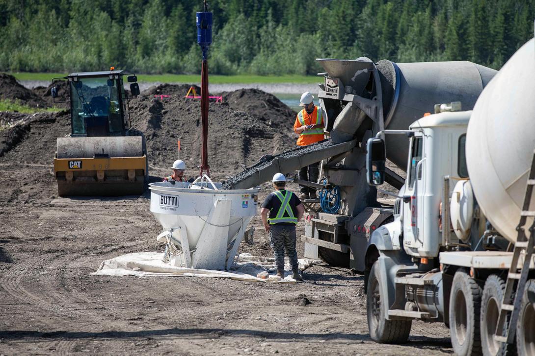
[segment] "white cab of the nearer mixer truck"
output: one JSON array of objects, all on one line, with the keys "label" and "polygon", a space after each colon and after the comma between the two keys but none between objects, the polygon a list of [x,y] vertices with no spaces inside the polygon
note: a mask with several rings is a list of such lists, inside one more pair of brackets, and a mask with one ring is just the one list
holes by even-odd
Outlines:
[{"label": "white cab of the nearer mixer truck", "polygon": [[[471,112],[443,112],[424,116],[409,127],[407,179],[396,201],[394,221],[379,227],[403,233],[403,249],[410,256],[436,258],[441,241],[440,203],[444,176],[468,177],[464,145]],[[388,135],[388,131],[385,132]],[[455,181],[450,180],[453,185]],[[389,226],[398,225],[398,226]],[[373,239],[373,237],[372,237]],[[399,236],[390,236],[399,246]]]}]

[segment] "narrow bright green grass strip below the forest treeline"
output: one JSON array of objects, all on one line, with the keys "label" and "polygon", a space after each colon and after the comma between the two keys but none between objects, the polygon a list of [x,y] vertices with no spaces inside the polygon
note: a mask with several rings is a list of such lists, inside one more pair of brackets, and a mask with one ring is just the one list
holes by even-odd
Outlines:
[{"label": "narrow bright green grass strip below the forest treeline", "polygon": [[[52,78],[64,77],[67,74],[60,73],[9,73],[20,81],[52,81]],[[200,83],[200,74],[137,74],[139,82],[160,83]],[[210,75],[210,83],[213,84],[315,84],[323,82],[323,77],[312,75]]]}]

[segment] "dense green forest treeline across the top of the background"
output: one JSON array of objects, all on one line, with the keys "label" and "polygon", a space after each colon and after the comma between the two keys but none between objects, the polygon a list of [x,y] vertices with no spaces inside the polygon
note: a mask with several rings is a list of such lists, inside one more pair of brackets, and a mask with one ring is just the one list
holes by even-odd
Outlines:
[{"label": "dense green forest treeline across the top of the background", "polygon": [[[470,60],[533,37],[535,0],[211,0],[210,73],[316,74],[315,58]],[[200,0],[0,0],[0,70],[199,73]]]}]

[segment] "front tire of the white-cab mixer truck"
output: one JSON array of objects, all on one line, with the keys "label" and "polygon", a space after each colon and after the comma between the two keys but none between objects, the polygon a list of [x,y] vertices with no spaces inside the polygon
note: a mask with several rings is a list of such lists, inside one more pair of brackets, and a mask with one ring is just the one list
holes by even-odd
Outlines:
[{"label": "front tire of the white-cab mixer truck", "polygon": [[[386,320],[384,303],[388,299],[383,290],[384,281],[379,271],[379,263],[371,267],[366,293],[366,314],[368,329],[373,341],[381,344],[401,344],[407,342],[412,320]],[[386,307],[387,308],[387,307]]]}]

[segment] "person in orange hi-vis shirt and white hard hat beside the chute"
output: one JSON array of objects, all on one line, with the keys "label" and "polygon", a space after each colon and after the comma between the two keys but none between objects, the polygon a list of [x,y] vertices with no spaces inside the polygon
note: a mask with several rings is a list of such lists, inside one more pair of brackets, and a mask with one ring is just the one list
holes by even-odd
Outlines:
[{"label": "person in orange hi-vis shirt and white hard hat beside the chute", "polygon": [[[294,132],[299,134],[297,146],[308,146],[322,141],[324,137],[323,110],[320,106],[314,105],[314,96],[309,92],[304,92],[301,96],[300,106],[303,109],[297,113],[294,123]],[[319,162],[307,165],[299,171],[299,179],[308,180],[314,183],[318,181]],[[300,199],[316,199],[316,189],[300,186]]]}]

